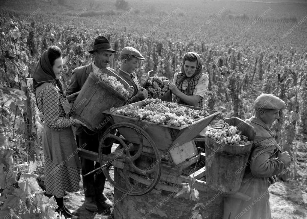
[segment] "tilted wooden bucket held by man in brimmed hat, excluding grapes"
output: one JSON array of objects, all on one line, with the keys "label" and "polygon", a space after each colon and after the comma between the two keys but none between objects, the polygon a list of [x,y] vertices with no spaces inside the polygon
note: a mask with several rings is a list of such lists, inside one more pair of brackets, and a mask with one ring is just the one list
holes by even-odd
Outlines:
[{"label": "tilted wooden bucket held by man in brimmed hat, excluding grapes", "polygon": [[91,131],[99,131],[111,120],[102,112],[122,106],[127,99],[91,72],[72,106],[73,117]]}]

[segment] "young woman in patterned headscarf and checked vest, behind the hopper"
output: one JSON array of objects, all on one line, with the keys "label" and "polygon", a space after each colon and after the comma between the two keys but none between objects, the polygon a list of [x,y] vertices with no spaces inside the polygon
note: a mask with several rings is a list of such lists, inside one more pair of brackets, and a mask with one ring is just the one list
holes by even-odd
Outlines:
[{"label": "young woman in patterned headscarf and checked vest, behind the hopper", "polygon": [[197,53],[188,52],[183,57],[181,72],[176,72],[169,89],[173,102],[203,108],[203,98],[208,89],[208,75]]}]

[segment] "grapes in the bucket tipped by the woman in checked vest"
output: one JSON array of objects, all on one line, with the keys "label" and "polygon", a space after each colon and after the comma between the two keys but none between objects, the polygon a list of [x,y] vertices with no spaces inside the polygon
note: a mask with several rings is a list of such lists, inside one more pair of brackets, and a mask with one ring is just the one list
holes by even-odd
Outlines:
[{"label": "grapes in the bucket tipped by the woman in checked vest", "polygon": [[169,90],[169,84],[171,82],[167,77],[149,77],[144,88],[148,91],[148,98],[160,98]]}]

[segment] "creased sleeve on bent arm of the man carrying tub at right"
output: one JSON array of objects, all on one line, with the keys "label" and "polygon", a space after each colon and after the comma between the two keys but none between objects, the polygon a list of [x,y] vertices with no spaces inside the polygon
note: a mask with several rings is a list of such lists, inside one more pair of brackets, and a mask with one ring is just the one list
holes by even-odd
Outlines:
[{"label": "creased sleeve on bent arm of the man carrying tub at right", "polygon": [[270,158],[275,146],[270,142],[263,142],[256,146],[251,154],[251,173],[255,177],[270,177],[281,173],[284,162],[279,158]]}]

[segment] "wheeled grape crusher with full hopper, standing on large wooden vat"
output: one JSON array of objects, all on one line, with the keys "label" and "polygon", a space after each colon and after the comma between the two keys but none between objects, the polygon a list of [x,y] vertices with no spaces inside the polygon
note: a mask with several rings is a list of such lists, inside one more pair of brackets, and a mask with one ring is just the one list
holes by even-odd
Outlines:
[{"label": "wheeled grape crusher with full hopper, standing on large wooden vat", "polygon": [[[159,115],[165,106],[177,114]],[[98,154],[79,154],[99,161],[102,166],[95,171],[102,170],[114,186],[115,219],[223,217],[222,192],[206,184],[205,154],[193,141],[220,112],[145,99],[103,113],[113,125],[104,132]],[[102,148],[110,139],[119,146],[104,155]],[[240,193],[232,196],[248,199]]]}]

